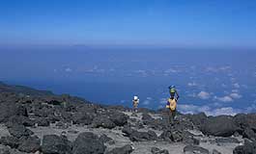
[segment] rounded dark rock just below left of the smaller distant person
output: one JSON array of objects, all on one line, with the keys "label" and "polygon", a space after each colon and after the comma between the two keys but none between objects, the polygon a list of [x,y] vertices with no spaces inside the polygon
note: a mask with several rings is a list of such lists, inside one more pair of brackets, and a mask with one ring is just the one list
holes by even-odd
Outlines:
[{"label": "rounded dark rock just below left of the smaller distant person", "polygon": [[123,113],[113,112],[110,115],[110,119],[117,125],[117,126],[124,126],[128,123],[128,116]]}]

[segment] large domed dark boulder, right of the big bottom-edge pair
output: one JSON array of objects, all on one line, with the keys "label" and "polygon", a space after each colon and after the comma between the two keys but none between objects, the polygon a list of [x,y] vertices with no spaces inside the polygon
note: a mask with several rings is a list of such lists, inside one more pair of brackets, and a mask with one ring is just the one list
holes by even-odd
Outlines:
[{"label": "large domed dark boulder, right of the big bottom-edge pair", "polygon": [[73,141],[73,154],[103,154],[105,151],[103,141],[100,141],[98,136],[93,133],[81,133]]}]

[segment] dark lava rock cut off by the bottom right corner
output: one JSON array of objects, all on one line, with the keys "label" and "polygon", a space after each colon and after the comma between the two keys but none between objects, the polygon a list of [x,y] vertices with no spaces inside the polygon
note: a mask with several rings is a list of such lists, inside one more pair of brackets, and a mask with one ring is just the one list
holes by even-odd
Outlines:
[{"label": "dark lava rock cut off by the bottom right corner", "polygon": [[233,150],[233,154],[255,154],[256,142],[244,141],[244,145],[237,146]]}]

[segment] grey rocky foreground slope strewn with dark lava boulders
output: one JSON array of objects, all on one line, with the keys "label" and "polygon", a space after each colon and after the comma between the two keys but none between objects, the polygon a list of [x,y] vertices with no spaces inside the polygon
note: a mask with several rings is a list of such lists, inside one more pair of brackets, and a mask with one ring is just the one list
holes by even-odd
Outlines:
[{"label": "grey rocky foreground slope strewn with dark lava boulders", "polygon": [[178,115],[0,92],[0,154],[256,153],[256,115]]}]

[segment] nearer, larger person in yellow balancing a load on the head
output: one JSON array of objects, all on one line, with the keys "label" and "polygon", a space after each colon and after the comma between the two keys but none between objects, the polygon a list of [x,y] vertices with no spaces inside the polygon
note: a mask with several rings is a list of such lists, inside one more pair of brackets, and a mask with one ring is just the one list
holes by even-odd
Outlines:
[{"label": "nearer, larger person in yellow balancing a load on the head", "polygon": [[[166,108],[168,109],[168,115],[169,115],[169,122],[173,124],[176,113],[177,113],[177,101],[179,99],[179,94],[177,90],[175,89],[175,86],[169,87],[170,90],[170,98],[168,98]],[[175,98],[176,94],[176,98]]]}]

